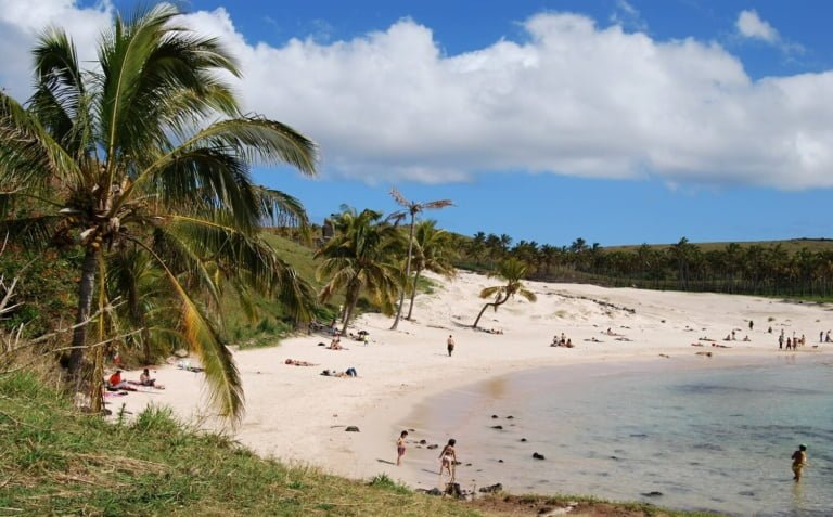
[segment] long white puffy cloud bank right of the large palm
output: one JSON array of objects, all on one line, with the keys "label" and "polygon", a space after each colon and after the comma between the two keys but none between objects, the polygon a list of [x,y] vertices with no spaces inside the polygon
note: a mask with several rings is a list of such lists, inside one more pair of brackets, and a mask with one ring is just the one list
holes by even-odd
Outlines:
[{"label": "long white puffy cloud bank right of the large palm", "polygon": [[188,23],[239,56],[249,109],[320,143],[328,175],[833,186],[829,72],[752,80],[718,44],[656,40],[577,14],[535,15],[523,41],[456,55],[408,18],[349,40],[280,47],[247,41],[223,9]]}]

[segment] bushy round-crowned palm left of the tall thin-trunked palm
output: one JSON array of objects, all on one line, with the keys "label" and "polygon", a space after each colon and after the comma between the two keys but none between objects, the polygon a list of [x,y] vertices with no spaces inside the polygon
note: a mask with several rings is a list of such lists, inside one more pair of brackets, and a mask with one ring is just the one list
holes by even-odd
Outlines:
[{"label": "bushy round-crowned palm left of the tall thin-trunked palm", "polygon": [[323,258],[319,280],[329,282],[319,293],[326,301],[336,292],[345,292],[342,327],[347,328],[359,296],[367,292],[385,313],[393,313],[396,288],[401,276],[394,262],[401,251],[396,227],[382,221],[382,212],[366,209],[361,214],[345,210],[334,220],[335,235],[319,248],[315,258]]}]

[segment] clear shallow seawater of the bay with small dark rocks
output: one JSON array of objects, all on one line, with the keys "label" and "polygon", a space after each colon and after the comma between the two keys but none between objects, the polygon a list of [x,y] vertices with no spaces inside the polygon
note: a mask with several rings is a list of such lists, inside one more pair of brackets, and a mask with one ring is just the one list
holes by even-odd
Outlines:
[{"label": "clear shallow seawater of the bay with small dark rocks", "polygon": [[[402,424],[458,440],[465,488],[833,515],[833,358],[696,359],[514,374],[437,396]],[[810,465],[795,483],[799,443]]]}]

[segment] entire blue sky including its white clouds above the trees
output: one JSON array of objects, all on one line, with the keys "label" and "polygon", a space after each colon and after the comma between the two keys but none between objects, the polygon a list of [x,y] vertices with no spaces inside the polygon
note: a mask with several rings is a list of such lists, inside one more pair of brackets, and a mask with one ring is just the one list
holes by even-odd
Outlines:
[{"label": "entire blue sky including its white clouds above the trees", "polygon": [[[79,46],[134,2],[0,0]],[[830,237],[833,4],[818,1],[192,1],[241,56],[253,112],[321,145],[321,178],[258,168],[313,219],[343,203],[553,245]],[[42,22],[41,22],[42,23]],[[5,55],[5,52],[4,52]],[[25,94],[25,63],[0,85]]]}]

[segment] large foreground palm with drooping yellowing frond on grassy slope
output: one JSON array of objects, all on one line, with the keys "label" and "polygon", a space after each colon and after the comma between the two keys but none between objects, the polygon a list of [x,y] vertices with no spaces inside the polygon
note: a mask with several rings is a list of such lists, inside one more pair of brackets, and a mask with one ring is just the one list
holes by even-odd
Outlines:
[{"label": "large foreground palm with drooping yellowing frond on grassy slope", "polygon": [[309,307],[308,287],[258,236],[268,217],[289,212],[303,224],[306,216],[292,197],[254,185],[249,166],[285,163],[315,175],[316,150],[283,124],[242,114],[222,79],[240,76],[234,60],[178,14],[159,4],[117,16],[88,69],[64,31],[40,38],[31,99],[22,105],[0,93],[0,230],[31,246],[82,249],[68,360],[76,379],[88,323],[113,303],[97,288],[108,260],[141,250],[177,300],[179,335],[202,359],[213,402],[239,417],[240,378],[212,310],[219,275],[291,300],[298,316]]}]

